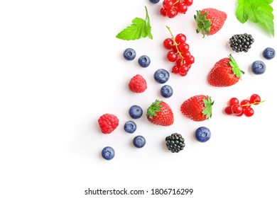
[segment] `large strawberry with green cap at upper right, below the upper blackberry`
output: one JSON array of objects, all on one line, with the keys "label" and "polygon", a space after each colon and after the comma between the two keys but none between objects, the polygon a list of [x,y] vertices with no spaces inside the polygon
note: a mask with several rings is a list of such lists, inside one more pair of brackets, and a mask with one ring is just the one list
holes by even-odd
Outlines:
[{"label": "large strawberry with green cap at upper right, below the upper blackberry", "polygon": [[232,86],[241,79],[241,74],[244,74],[244,71],[239,69],[237,62],[229,54],[229,58],[220,59],[214,64],[207,76],[207,81],[211,86]]}]

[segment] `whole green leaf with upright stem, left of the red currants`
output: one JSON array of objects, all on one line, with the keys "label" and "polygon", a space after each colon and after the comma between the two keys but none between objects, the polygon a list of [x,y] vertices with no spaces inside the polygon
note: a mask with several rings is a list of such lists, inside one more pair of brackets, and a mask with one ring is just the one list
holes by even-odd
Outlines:
[{"label": "whole green leaf with upright stem, left of the red currants", "polygon": [[141,37],[149,37],[153,39],[153,36],[151,35],[151,24],[147,8],[145,20],[143,18],[134,18],[132,20],[132,24],[124,28],[124,30],[121,30],[121,32],[118,33],[116,37],[121,40],[137,40]]}]

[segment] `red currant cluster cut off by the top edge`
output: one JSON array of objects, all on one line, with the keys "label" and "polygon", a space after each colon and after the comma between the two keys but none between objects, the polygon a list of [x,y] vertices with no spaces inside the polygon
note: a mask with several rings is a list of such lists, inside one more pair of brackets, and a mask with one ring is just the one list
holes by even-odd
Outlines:
[{"label": "red currant cluster cut off by the top edge", "polygon": [[178,13],[186,13],[193,0],[164,0],[160,10],[161,16],[174,18]]}]

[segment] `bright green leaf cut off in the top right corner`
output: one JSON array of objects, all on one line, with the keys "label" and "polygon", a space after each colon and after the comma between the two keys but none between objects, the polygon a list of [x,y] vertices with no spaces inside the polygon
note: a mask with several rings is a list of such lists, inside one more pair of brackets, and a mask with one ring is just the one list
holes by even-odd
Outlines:
[{"label": "bright green leaf cut off in the top right corner", "polygon": [[239,22],[252,21],[274,36],[273,8],[270,5],[273,0],[237,0],[237,2],[236,16]]}]

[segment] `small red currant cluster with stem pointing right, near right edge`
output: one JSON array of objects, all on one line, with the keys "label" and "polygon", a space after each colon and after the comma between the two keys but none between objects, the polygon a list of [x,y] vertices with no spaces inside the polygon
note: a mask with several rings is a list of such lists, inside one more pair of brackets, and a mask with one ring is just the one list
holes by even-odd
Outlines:
[{"label": "small red currant cluster with stem pointing right, near right edge", "polygon": [[261,97],[258,94],[253,94],[250,96],[249,100],[241,100],[240,103],[237,98],[231,98],[228,102],[228,106],[225,107],[224,112],[227,115],[245,115],[246,117],[251,117],[254,115],[254,109],[251,105],[259,105],[264,101],[265,100],[261,101]]}]

